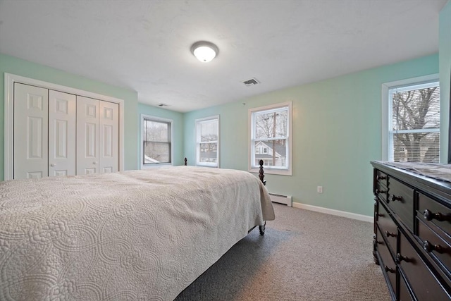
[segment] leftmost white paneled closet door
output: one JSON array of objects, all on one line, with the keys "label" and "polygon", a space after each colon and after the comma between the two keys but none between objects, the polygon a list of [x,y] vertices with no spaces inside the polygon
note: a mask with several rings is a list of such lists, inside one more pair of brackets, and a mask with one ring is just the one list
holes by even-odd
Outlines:
[{"label": "leftmost white paneled closet door", "polygon": [[15,179],[48,176],[48,105],[47,89],[14,83]]}]

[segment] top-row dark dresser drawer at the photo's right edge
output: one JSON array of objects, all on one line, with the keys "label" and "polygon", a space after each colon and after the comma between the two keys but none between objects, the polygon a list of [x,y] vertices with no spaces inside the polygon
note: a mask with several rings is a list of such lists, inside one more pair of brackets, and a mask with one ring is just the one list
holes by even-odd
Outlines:
[{"label": "top-row dark dresser drawer at the photo's right edge", "polygon": [[[451,233],[451,209],[443,206],[434,199],[418,194],[418,211],[424,222],[431,226],[437,226],[440,231]],[[433,226],[431,226],[433,228]]]}]

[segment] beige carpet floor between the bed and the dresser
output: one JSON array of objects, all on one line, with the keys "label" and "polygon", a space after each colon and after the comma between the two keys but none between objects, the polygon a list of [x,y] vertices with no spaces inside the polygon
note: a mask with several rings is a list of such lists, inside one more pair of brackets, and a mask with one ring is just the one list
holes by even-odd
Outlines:
[{"label": "beige carpet floor between the bed and the dresser", "polygon": [[373,263],[373,224],[274,204],[254,229],[175,300],[390,300]]}]

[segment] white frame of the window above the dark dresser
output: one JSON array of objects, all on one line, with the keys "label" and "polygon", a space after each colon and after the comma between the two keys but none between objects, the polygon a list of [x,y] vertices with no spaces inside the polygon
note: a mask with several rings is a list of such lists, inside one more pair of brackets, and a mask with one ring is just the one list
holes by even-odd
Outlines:
[{"label": "white frame of the window above the dark dresser", "polygon": [[[396,80],[394,82],[385,82],[382,84],[382,160],[389,161],[390,154],[393,153],[393,131],[392,128],[392,105],[390,102],[390,90],[399,87],[400,91],[410,90],[412,86],[418,86],[418,89],[423,87],[429,87],[432,83],[439,82],[438,73],[431,75],[419,76],[417,78],[407,78],[405,80]],[[440,125],[441,127],[441,125]],[[421,129],[421,133],[435,132],[440,133],[440,129]],[[398,133],[402,133],[399,131]],[[409,130],[409,132],[413,132]],[[439,152],[439,161],[441,157],[441,151]]]}]

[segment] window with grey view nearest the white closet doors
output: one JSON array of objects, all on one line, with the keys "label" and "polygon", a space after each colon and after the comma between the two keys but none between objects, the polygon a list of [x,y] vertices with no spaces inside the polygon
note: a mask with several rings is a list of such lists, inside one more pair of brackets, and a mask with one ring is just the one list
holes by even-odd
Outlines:
[{"label": "window with grey view nearest the white closet doors", "polygon": [[172,121],[168,119],[141,116],[143,168],[172,163]]}]

